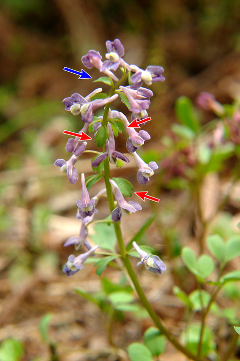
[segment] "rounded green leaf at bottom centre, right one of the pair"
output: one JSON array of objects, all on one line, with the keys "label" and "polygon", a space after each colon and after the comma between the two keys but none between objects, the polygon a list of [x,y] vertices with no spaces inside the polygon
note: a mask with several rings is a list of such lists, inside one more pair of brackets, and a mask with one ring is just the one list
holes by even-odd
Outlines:
[{"label": "rounded green leaf at bottom centre, right one of the pair", "polygon": [[165,337],[155,327],[149,327],[144,332],[144,343],[153,356],[158,356],[165,350]]}]

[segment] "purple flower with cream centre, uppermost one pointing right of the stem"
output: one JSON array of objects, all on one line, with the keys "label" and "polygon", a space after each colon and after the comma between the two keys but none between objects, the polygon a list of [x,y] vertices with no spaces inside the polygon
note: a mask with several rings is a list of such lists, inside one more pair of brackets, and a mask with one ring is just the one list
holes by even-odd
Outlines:
[{"label": "purple flower with cream centre, uppermost one pointing right of the stem", "polygon": [[160,66],[149,65],[145,70],[138,68],[136,65],[130,65],[131,70],[134,74],[131,77],[131,88],[137,89],[142,86],[144,82],[146,85],[151,85],[152,83],[162,82],[165,80],[162,73],[164,69]]}]

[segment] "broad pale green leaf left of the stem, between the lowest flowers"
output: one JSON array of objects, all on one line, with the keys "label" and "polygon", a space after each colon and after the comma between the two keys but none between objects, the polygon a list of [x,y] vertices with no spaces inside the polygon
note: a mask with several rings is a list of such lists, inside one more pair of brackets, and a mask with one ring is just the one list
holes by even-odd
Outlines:
[{"label": "broad pale green leaf left of the stem, between the lowest flowers", "polygon": [[116,236],[113,224],[97,223],[94,225],[94,234],[89,235],[92,242],[100,248],[115,252]]}]

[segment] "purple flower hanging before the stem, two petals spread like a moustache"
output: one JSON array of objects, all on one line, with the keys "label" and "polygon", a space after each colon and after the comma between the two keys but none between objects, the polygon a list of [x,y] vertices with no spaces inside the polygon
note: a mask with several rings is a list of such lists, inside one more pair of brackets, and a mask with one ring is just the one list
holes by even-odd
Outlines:
[{"label": "purple flower hanging before the stem, two petals spread like a moustache", "polygon": [[115,150],[114,135],[110,123],[107,124],[107,128],[109,131],[109,140],[106,140],[106,152],[101,153],[92,161],[91,165],[93,167],[97,167],[107,156],[112,164],[116,164],[116,159],[121,159],[127,163],[129,162],[129,159],[124,154]]}]

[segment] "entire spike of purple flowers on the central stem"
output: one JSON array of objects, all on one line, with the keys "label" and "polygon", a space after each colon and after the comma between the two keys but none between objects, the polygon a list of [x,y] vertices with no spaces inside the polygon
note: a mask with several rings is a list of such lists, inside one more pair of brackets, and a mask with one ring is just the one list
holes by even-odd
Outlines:
[{"label": "entire spike of purple flowers on the central stem", "polygon": [[[91,165],[94,170],[98,171],[96,175],[96,182],[104,176],[106,188],[108,186],[107,195],[109,195],[109,189],[112,187],[115,208],[111,212],[111,222],[118,222],[122,215],[129,215],[141,210],[141,205],[136,201],[126,201],[123,198],[120,184],[117,181],[110,179],[106,174],[102,174],[102,168],[105,169],[106,162],[111,164],[118,164],[118,160],[129,162],[128,156],[115,149],[115,139],[118,132],[122,132],[123,127],[127,132],[126,151],[133,155],[138,171],[136,174],[137,181],[140,185],[145,185],[149,182],[150,176],[153,175],[154,170],[158,168],[158,165],[154,161],[150,161],[148,164],[140,158],[136,153],[145,141],[150,139],[150,135],[145,130],[140,129],[136,131],[134,128],[128,127],[129,121],[127,117],[117,110],[111,110],[110,106],[119,97],[121,101],[128,107],[130,111],[131,121],[136,119],[144,119],[147,117],[148,108],[150,105],[150,98],[153,93],[150,89],[144,87],[149,86],[152,83],[162,82],[164,77],[162,75],[163,68],[160,66],[147,66],[145,70],[140,69],[136,65],[129,65],[123,59],[124,47],[119,39],[106,42],[106,60],[102,61],[102,56],[98,51],[89,50],[81,60],[83,65],[88,68],[96,68],[100,72],[104,73],[108,78],[99,78],[98,81],[103,81],[105,84],[111,84],[111,89],[107,94],[102,93],[102,88],[93,90],[86,96],[82,96],[78,93],[73,93],[71,96],[63,99],[65,110],[71,112],[74,116],[79,115],[83,122],[83,127],[79,131],[86,133],[87,131],[94,131],[95,142],[97,146],[102,146],[102,152],[96,152],[95,150],[85,150],[87,142],[79,141],[78,137],[69,138],[66,143],[66,151],[71,153],[68,160],[57,159],[55,165],[60,167],[61,171],[67,173],[68,181],[71,184],[75,184],[78,180],[78,171],[75,164],[79,156],[87,151],[97,153],[91,160]],[[122,72],[122,76],[119,80],[119,76],[114,72]],[[128,79],[128,85],[124,82]],[[113,81],[117,82],[114,84]],[[144,84],[144,85],[143,85]],[[117,88],[118,86],[118,88]],[[97,116],[96,110],[104,108],[103,116]],[[108,165],[109,168],[109,165]],[[94,176],[93,176],[94,178]],[[117,178],[116,178],[117,179]],[[92,246],[88,240],[87,227],[89,223],[94,222],[93,218],[96,214],[96,204],[98,199],[105,194],[106,190],[103,189],[92,198],[89,197],[86,184],[89,180],[85,179],[84,173],[81,173],[81,198],[76,201],[77,213],[76,218],[81,222],[80,231],[78,236],[70,237],[64,243],[64,247],[74,245],[75,250],[80,249],[83,245],[87,248],[87,252],[82,253],[75,257],[70,255],[68,261],[63,267],[63,272],[68,276],[75,274],[83,266],[82,263],[86,258],[98,248],[98,245]],[[94,183],[96,183],[94,181]],[[93,183],[93,184],[94,184]],[[89,187],[91,184],[89,183]],[[89,188],[88,187],[88,188]],[[124,192],[123,192],[124,193]],[[113,201],[112,201],[113,202]],[[111,206],[111,208],[113,208]],[[99,222],[99,221],[98,221]],[[144,263],[146,269],[151,272],[161,273],[165,269],[163,262],[157,256],[145,254],[144,251],[134,243],[133,247],[139,253],[141,262]]]}]

